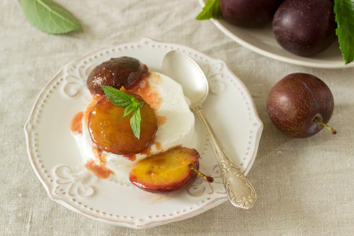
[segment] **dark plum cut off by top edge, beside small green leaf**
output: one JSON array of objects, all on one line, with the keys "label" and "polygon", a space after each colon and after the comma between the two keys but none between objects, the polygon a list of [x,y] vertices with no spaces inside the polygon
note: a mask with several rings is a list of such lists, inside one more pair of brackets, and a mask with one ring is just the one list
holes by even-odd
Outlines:
[{"label": "dark plum cut off by top edge, beside small green leaf", "polygon": [[225,19],[242,27],[260,27],[272,21],[284,0],[220,0]]}]

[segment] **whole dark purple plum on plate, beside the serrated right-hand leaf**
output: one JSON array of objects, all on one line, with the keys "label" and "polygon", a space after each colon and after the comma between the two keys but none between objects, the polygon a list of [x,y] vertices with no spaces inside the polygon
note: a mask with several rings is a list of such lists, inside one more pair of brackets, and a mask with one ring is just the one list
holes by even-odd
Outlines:
[{"label": "whole dark purple plum on plate, beside the serrated right-hand leaf", "polygon": [[273,19],[276,41],[298,56],[324,51],[335,40],[336,28],[331,0],[286,0]]}]

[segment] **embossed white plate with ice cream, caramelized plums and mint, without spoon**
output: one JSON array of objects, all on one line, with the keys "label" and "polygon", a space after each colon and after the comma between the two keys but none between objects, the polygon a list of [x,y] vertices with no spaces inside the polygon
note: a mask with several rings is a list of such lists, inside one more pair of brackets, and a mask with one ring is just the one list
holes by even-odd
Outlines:
[{"label": "embossed white plate with ice cream, caramelized plums and mint, without spoon", "polygon": [[248,173],[263,125],[244,84],[223,61],[142,38],[64,64],[37,97],[24,129],[30,162],[51,199],[92,219],[137,229],[227,201],[203,126],[182,86],[160,73],[172,50],[204,71],[204,112]]}]

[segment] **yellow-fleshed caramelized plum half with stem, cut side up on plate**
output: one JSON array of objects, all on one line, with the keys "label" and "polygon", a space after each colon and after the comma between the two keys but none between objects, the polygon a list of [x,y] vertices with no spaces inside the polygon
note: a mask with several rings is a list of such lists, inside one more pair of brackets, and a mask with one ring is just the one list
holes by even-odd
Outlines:
[{"label": "yellow-fleshed caramelized plum half with stem, cut side up on plate", "polygon": [[130,171],[129,180],[138,188],[160,194],[176,194],[187,189],[197,174],[188,166],[199,169],[199,154],[195,149],[177,146],[139,161]]}]

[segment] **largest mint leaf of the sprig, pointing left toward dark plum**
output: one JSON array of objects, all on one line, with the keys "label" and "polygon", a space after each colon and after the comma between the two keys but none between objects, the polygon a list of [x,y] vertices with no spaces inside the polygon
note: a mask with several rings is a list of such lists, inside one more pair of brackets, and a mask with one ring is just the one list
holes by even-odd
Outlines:
[{"label": "largest mint leaf of the sprig, pointing left toward dark plum", "polygon": [[117,107],[128,107],[134,102],[139,102],[135,97],[125,92],[122,92],[116,88],[112,88],[109,86],[101,86],[101,88],[103,89],[104,94],[106,94],[110,102],[116,105]]}]

